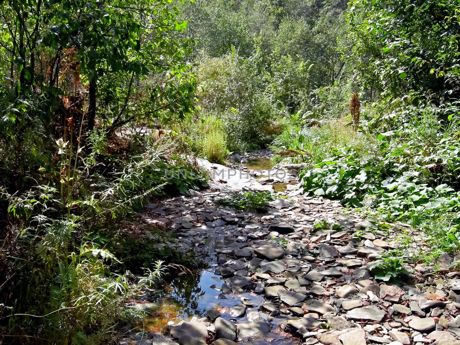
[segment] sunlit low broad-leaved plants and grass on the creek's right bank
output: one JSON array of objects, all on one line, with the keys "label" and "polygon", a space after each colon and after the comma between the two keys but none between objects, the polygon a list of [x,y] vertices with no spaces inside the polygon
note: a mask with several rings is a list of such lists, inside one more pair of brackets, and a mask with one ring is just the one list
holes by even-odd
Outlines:
[{"label": "sunlit low broad-leaved plants and grass on the creek's right bank", "polygon": [[306,194],[424,230],[431,251],[404,249],[402,234],[400,254],[433,264],[460,251],[459,105],[384,109],[363,109],[357,130],[345,119],[320,127],[295,119],[273,144],[276,160],[307,163],[299,174]]}]

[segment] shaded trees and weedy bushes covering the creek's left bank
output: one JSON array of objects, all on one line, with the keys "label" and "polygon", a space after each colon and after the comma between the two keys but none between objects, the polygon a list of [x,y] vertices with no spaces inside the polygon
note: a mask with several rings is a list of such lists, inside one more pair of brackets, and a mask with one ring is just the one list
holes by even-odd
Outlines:
[{"label": "shaded trees and weedy bushes covering the creek's left bank", "polygon": [[158,260],[193,257],[133,218],[152,195],[206,184],[166,178],[196,165],[132,134],[195,109],[177,16],[167,0],[0,2],[0,342],[107,342],[141,316],[124,303]]}]

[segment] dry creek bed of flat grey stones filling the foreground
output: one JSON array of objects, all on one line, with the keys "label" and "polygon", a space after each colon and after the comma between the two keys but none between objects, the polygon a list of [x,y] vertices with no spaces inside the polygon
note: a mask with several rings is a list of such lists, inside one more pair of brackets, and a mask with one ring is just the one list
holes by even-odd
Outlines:
[{"label": "dry creek bed of flat grey stones filling the foreground", "polygon": [[[224,193],[231,191],[149,205],[143,221],[171,227],[174,250],[193,249],[210,268],[198,273],[194,293],[177,289],[192,273],[176,278],[168,296],[183,299],[181,313],[167,318],[164,305],[152,305],[164,327],[131,331],[120,344],[460,345],[458,281],[415,264],[399,284],[376,281],[368,270],[404,224],[379,228],[297,190],[265,213],[237,211],[217,205]],[[424,250],[419,234],[413,238]]]}]

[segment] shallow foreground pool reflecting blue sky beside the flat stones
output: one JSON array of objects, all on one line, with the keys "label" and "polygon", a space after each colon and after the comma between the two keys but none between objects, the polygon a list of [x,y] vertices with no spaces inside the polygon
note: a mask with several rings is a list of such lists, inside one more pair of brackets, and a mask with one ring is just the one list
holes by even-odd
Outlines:
[{"label": "shallow foreground pool reflecting blue sky beside the flat stones", "polygon": [[[190,321],[194,316],[204,317],[206,311],[216,304],[219,304],[219,311],[223,314],[221,317],[236,323],[249,322],[247,313],[259,310],[259,305],[264,302],[263,295],[254,293],[238,295],[227,293],[223,295],[219,291],[223,284],[223,278],[214,274],[216,268],[219,267],[214,249],[225,247],[235,240],[230,237],[210,234],[204,242],[209,252],[206,261],[211,267],[181,272],[176,276],[166,278],[161,285],[156,286],[155,291],[145,298],[157,305],[156,311],[143,324],[136,325],[139,331],[159,332],[168,335],[171,326],[182,320]],[[254,306],[248,306],[245,316],[236,318],[230,315],[230,307],[241,304],[241,298],[249,299]],[[266,318],[268,320],[270,316],[267,314]],[[294,345],[299,342],[299,339],[293,338],[291,334],[286,334],[277,327],[276,318],[272,318],[271,321],[270,332],[263,339],[243,340],[240,344]]]}]

